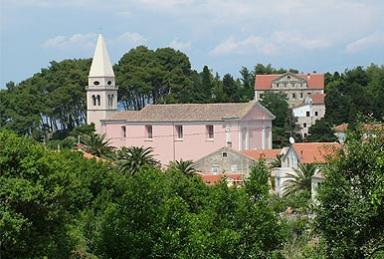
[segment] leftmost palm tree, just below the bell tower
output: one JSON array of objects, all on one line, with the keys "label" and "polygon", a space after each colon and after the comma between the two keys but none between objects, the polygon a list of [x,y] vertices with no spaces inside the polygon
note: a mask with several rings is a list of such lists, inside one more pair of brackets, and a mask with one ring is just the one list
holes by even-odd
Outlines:
[{"label": "leftmost palm tree, just below the bell tower", "polygon": [[110,146],[109,140],[105,139],[105,135],[98,135],[91,133],[85,135],[82,140],[85,151],[95,155],[97,157],[110,157],[112,154],[113,147]]}]

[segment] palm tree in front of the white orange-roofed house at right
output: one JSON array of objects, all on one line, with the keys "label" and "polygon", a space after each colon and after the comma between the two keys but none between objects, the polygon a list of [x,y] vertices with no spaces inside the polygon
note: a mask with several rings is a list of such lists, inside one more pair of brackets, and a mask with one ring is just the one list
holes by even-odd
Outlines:
[{"label": "palm tree in front of the white orange-roofed house at right", "polygon": [[284,196],[295,192],[311,191],[312,176],[316,173],[317,166],[314,164],[301,164],[293,173],[288,173],[289,179],[283,184]]}]

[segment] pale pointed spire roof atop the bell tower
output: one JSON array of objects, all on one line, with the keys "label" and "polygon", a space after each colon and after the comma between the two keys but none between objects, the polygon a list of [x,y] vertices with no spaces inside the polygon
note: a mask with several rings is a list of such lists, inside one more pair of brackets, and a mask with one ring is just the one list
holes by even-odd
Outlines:
[{"label": "pale pointed spire roof atop the bell tower", "polygon": [[107,47],[103,35],[99,34],[96,43],[95,55],[92,59],[89,77],[114,77],[111,60],[109,59]]}]

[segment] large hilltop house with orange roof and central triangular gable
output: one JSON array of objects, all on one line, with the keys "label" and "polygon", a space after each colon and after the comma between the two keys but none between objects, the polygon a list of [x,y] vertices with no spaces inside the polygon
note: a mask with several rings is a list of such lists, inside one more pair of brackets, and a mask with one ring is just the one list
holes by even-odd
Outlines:
[{"label": "large hilltop house with orange roof and central triangular gable", "polygon": [[295,107],[304,102],[307,96],[324,94],[324,74],[272,74],[256,75],[255,100],[263,99],[265,92],[282,92],[288,98],[289,107]]}]

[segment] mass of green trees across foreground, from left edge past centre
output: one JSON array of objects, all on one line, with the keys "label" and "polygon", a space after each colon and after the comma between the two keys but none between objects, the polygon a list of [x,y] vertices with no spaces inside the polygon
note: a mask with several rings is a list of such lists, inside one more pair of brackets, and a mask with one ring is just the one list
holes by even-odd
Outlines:
[{"label": "mass of green trees across foreground, from left edge past centre", "polygon": [[225,181],[210,187],[151,166],[131,177],[80,152],[52,152],[4,131],[0,140],[6,258],[279,256],[282,230],[264,171],[252,180],[263,193],[255,200]]}]

